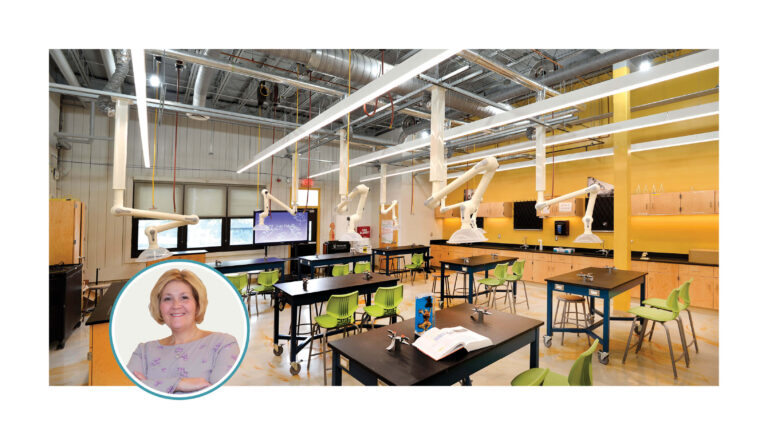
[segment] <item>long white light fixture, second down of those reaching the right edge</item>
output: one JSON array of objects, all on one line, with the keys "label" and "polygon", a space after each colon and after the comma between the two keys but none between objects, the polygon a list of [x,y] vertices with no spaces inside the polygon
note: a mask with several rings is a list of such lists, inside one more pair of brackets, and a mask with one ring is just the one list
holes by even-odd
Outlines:
[{"label": "long white light fixture, second down of those reaching the right edge", "polygon": [[[636,130],[640,128],[655,127],[664,124],[671,124],[673,122],[688,121],[696,118],[703,118],[706,116],[717,115],[720,113],[720,103],[707,103],[693,107],[686,107],[683,109],[672,110],[669,112],[657,113],[655,115],[643,116],[640,118],[629,119],[626,121],[615,122],[613,124],[605,124],[597,127],[591,127],[584,130],[573,131],[570,133],[558,134],[550,136],[545,142],[545,146],[560,145],[568,142],[576,142],[579,140],[587,139],[595,136],[604,136],[609,134],[616,134],[630,130]],[[511,154],[516,152],[528,151],[536,148],[534,141],[526,141],[516,143],[512,145],[506,145],[499,148],[491,148],[484,151],[478,151],[476,153],[467,154],[458,157],[452,157],[446,161],[448,165],[455,165],[460,163],[466,163],[472,160],[478,160],[485,157],[497,157],[504,154]],[[654,148],[648,148],[654,149]],[[642,151],[638,149],[638,151]],[[504,166],[502,166],[503,168]],[[428,163],[420,165],[414,165],[409,168],[387,173],[388,177],[407,174],[416,171],[425,171],[429,169]],[[503,169],[500,169],[503,170]],[[360,181],[371,181],[378,179],[380,175],[370,175]]]}]

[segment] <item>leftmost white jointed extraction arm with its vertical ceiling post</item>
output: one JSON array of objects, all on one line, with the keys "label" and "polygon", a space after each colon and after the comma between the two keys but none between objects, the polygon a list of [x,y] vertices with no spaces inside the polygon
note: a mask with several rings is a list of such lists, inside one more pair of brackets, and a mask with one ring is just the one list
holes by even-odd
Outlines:
[{"label": "leftmost white jointed extraction arm with its vertical ceiling post", "polygon": [[163,231],[178,228],[182,225],[195,225],[200,219],[195,215],[138,210],[123,205],[125,197],[125,168],[128,159],[128,106],[131,104],[131,101],[115,98],[115,102],[115,156],[112,172],[112,188],[114,189],[115,196],[111,212],[115,216],[170,220],[171,222],[162,225],[153,225],[144,230],[144,234],[146,234],[149,239],[149,247],[139,255],[139,259],[143,261],[151,261],[170,257],[170,251],[159,246],[157,235]]}]

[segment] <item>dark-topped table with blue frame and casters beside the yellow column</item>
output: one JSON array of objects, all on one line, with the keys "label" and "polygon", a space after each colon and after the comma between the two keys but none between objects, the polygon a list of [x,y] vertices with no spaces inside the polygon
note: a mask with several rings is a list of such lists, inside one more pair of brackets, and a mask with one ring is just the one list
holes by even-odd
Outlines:
[{"label": "dark-topped table with blue frame and casters beside the yellow column", "polygon": [[[593,281],[586,281],[578,274],[591,273]],[[632,288],[640,286],[640,300],[645,300],[645,272],[630,270],[618,270],[613,268],[587,267],[574,270],[562,275],[547,278],[547,334],[544,338],[544,346],[552,345],[552,336],[556,332],[585,333],[598,340],[602,345],[602,351],[598,352],[598,360],[602,364],[608,364],[610,352],[611,320],[631,321],[634,317],[611,316],[611,298]],[[555,328],[552,324],[552,293],[555,291],[584,296],[589,299],[590,317],[595,313],[602,317],[593,322],[587,328]],[[602,299],[603,311],[595,309],[595,299]],[[603,327],[603,336],[600,337],[594,329]],[[631,333],[631,332],[630,332]]]}]

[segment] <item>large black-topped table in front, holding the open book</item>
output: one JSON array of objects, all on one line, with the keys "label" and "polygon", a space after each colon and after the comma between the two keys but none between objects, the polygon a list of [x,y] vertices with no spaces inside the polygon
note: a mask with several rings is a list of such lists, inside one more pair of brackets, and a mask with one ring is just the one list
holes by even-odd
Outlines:
[{"label": "large black-topped table in front, holding the open book", "polygon": [[539,327],[544,322],[495,310],[490,310],[493,314],[485,316],[483,322],[476,322],[469,317],[471,310],[472,305],[461,304],[436,311],[435,326],[463,326],[490,338],[492,346],[472,352],[462,349],[439,361],[413,346],[401,345],[400,350],[388,352],[387,329],[413,341],[415,319],[409,319],[330,342],[332,385],[341,385],[342,370],[365,385],[452,385],[459,381],[471,385],[471,374],[525,346],[530,346],[530,367],[539,366]]}]

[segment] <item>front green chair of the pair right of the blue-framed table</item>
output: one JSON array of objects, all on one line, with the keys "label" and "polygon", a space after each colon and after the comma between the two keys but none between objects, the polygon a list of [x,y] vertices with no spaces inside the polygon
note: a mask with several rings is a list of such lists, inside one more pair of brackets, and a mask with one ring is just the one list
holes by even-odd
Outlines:
[{"label": "front green chair of the pair right of the blue-framed table", "polygon": [[[672,292],[667,297],[667,308],[669,308],[669,310],[660,310],[658,308],[640,306],[630,308],[627,311],[628,313],[634,314],[635,318],[632,319],[632,326],[629,329],[629,337],[627,338],[627,347],[624,349],[624,359],[621,361],[622,364],[627,361],[627,353],[629,353],[630,347],[635,347],[635,353],[640,352],[640,348],[643,346],[643,339],[645,338],[645,329],[648,326],[648,321],[654,322],[654,325],[656,323],[661,323],[661,326],[664,327],[664,331],[667,332],[669,357],[672,360],[672,373],[674,373],[675,379],[677,379],[677,367],[675,366],[675,363],[681,357],[675,359],[675,353],[672,350],[672,337],[669,335],[669,329],[667,329],[666,325],[667,322],[674,321],[677,323],[678,331],[680,331],[680,342],[683,343],[683,357],[685,357],[685,366],[689,367],[690,362],[688,359],[688,346],[686,345],[687,341],[685,339],[685,331],[683,330],[683,322],[678,315],[680,313],[680,307],[677,304],[677,298],[679,294],[680,289],[676,288],[672,290]],[[639,334],[640,338],[638,339],[637,343],[630,346],[630,343],[632,342],[633,331],[635,330],[635,322],[637,321],[640,321],[640,323],[643,325]]]}]

